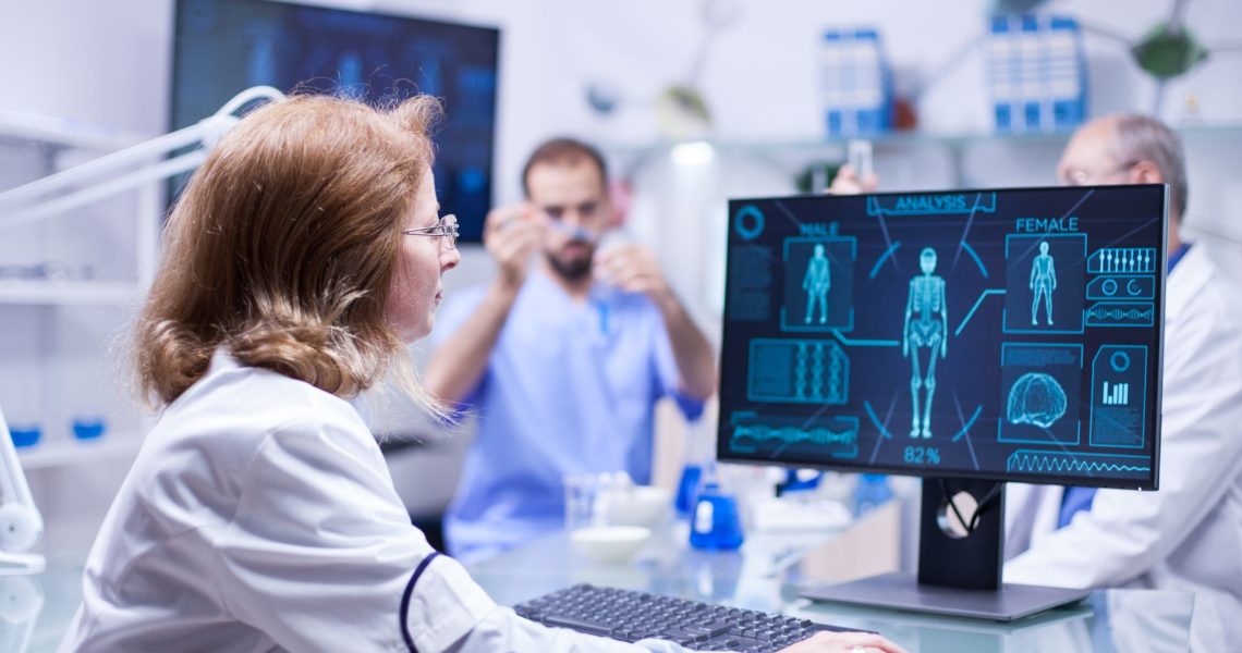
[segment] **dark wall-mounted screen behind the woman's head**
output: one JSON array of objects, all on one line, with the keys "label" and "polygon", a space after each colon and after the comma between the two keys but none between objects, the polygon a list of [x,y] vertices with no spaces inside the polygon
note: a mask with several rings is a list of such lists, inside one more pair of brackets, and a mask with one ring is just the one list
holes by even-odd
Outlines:
[{"label": "dark wall-mounted screen behind the woman's head", "polygon": [[498,30],[267,0],[179,0],[175,22],[173,129],[260,84],[380,103],[442,98],[436,191],[462,238],[479,240],[492,200]]}]

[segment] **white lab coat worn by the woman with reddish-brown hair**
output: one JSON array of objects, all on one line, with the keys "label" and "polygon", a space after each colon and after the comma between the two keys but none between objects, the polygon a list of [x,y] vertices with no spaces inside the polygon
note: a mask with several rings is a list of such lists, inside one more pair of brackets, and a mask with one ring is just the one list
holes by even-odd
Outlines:
[{"label": "white lab coat worn by the woman with reddish-brown hair", "polygon": [[410,588],[431,554],[349,402],[217,353],[143,444],[61,651],[682,651],[519,618],[447,556]]}]

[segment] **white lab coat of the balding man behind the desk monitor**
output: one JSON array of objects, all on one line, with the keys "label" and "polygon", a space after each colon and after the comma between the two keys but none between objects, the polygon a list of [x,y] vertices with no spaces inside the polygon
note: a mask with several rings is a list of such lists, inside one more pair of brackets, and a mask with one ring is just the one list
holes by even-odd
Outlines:
[{"label": "white lab coat of the balding man behind the desk monitor", "polygon": [[[1166,283],[1159,492],[1010,484],[1005,581],[1195,592],[1194,651],[1242,651],[1242,254],[1201,242]],[[1025,552],[1023,552],[1025,551]]]}]

